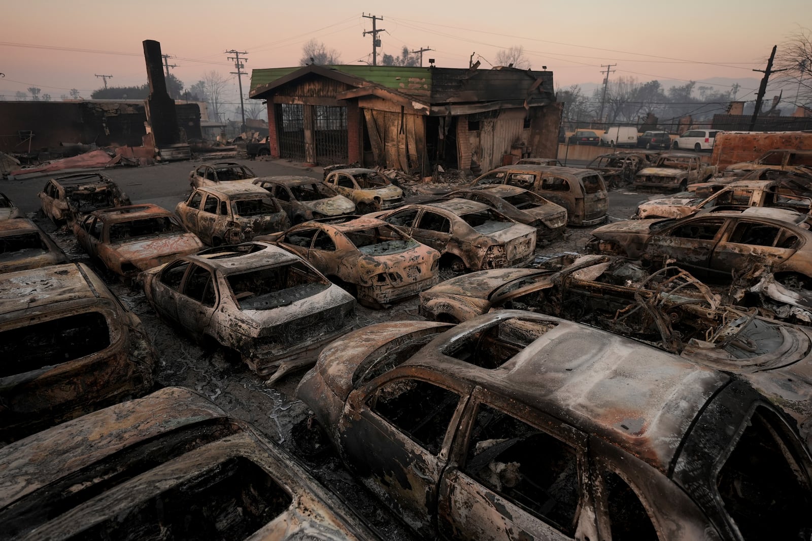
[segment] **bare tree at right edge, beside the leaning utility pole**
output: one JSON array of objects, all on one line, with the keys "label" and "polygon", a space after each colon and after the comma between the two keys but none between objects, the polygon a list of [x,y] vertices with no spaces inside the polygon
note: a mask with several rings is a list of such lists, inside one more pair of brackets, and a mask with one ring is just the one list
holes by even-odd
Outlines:
[{"label": "bare tree at right edge, beside the leaning utility pole", "polygon": [[[787,101],[809,106],[812,101],[812,30],[798,28],[775,54],[775,82],[788,92]],[[794,91],[794,92],[793,92]]]}]

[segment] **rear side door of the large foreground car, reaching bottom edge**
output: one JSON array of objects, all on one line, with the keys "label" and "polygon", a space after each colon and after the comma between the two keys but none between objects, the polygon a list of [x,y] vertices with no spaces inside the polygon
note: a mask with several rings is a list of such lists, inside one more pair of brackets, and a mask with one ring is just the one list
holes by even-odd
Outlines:
[{"label": "rear side door of the large foreground car, reaching bottom edge", "polygon": [[[474,390],[438,492],[454,539],[598,539],[587,436],[516,401]],[[522,532],[525,536],[510,535]]]}]

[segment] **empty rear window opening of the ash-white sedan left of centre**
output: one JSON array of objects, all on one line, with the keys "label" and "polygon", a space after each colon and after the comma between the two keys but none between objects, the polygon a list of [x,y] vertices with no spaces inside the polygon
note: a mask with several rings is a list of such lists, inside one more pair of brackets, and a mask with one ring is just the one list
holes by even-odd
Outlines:
[{"label": "empty rear window opening of the ash-white sedan left of centre", "polygon": [[299,262],[226,277],[240,310],[270,310],[312,297],[330,282]]}]

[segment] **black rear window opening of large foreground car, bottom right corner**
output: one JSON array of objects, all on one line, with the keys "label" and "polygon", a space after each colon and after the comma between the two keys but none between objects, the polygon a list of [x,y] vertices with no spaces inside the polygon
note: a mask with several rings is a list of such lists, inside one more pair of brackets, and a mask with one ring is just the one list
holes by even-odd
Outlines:
[{"label": "black rear window opening of large foreground car, bottom right corner", "polygon": [[809,539],[810,479],[784,422],[759,406],[719,470],[724,509],[747,541]]}]

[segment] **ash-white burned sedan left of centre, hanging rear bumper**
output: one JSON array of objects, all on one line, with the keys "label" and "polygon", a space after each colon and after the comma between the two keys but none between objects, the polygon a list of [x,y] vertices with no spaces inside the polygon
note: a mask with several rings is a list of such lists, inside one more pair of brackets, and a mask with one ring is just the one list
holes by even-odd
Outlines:
[{"label": "ash-white burned sedan left of centre, hanging rear bumper", "polygon": [[312,364],[355,324],[355,299],[280,247],[244,243],[187,255],[140,276],[147,301],[192,336],[278,380]]}]

